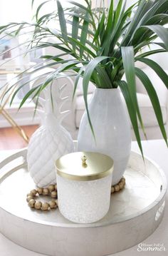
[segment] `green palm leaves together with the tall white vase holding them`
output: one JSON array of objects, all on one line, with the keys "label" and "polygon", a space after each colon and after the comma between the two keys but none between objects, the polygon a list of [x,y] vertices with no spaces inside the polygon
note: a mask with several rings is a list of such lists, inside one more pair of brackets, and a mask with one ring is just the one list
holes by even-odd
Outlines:
[{"label": "green palm leaves together with the tall white vase holding them", "polygon": [[[42,68],[56,63],[61,66],[47,76],[43,84],[31,89],[23,98],[21,106],[31,93],[36,92],[35,96],[39,96],[43,88],[63,71],[73,71],[70,76],[75,76],[74,95],[79,78],[83,77],[86,111],[80,123],[78,149],[110,155],[115,161],[112,182],[114,184],[125,171],[131,145],[130,123],[120,98],[120,91],[125,98],[132,128],[142,152],[139,126],[144,133],[145,129],[137,102],[135,76],[140,78],[145,86],[167,143],[157,93],[147,74],[135,67],[135,62],[145,63],[152,68],[168,88],[167,73],[156,62],[147,58],[154,53],[168,50],[168,31],[164,27],[168,22],[168,1],[140,0],[128,9],[125,7],[126,1],[123,0],[119,0],[116,7],[111,0],[109,8],[105,6],[104,1],[100,1],[100,5],[95,8],[92,8],[92,1],[89,0],[83,0],[83,4],[68,1],[71,6],[65,9],[60,1],[56,2],[57,10],[50,14],[39,15],[40,9],[47,2],[36,9],[29,51],[51,46],[61,53],[56,56],[41,56],[46,61]],[[26,26],[30,24],[9,24],[1,27],[1,31],[16,27],[16,34],[19,34]],[[56,39],[56,42],[49,43],[46,40],[48,37]],[[157,37],[162,39],[162,43],[155,41]],[[152,51],[152,43],[159,48]],[[146,51],[143,51],[144,48]],[[30,73],[35,73],[38,68]],[[122,79],[124,73],[126,81]],[[95,84],[96,90],[88,104],[90,81]],[[14,95],[16,93],[17,91]]]}]

